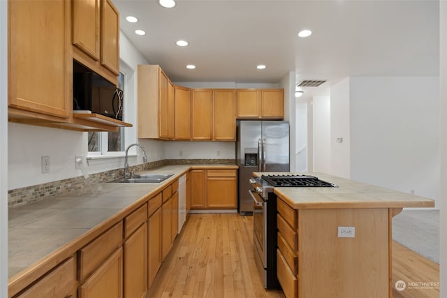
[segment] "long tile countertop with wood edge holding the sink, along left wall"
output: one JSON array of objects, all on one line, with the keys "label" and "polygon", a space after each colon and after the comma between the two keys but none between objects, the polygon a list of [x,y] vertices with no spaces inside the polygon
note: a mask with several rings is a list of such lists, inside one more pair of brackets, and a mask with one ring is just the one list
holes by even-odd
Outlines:
[{"label": "long tile countertop with wood edge holding the sink, along left wall", "polygon": [[[138,174],[174,174],[159,184],[104,183],[8,210],[8,278],[45,262],[48,255],[85,245],[189,169],[237,165],[166,165]],[[101,230],[95,229],[101,226]]]}]

